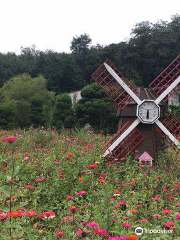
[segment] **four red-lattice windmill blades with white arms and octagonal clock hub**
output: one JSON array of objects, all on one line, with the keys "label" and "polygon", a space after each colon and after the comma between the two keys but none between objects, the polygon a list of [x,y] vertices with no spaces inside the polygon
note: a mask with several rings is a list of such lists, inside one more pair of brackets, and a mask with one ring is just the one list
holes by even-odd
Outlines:
[{"label": "four red-lattice windmill blades with white arms and octagonal clock hub", "polygon": [[[118,106],[119,111],[125,111],[134,103],[135,113],[133,121],[126,121],[119,131],[104,146],[103,157],[115,156],[117,159],[125,157],[137,147],[155,155],[155,141],[150,139],[149,133],[156,132],[162,139],[173,146],[178,146],[180,122],[171,113],[160,121],[162,116],[161,102],[166,102],[180,88],[180,56],[178,56],[150,85],[143,89],[146,94],[138,94],[138,89],[124,77],[110,60],[106,60],[93,74],[92,78]],[[142,92],[142,91],[141,91]],[[143,97],[140,95],[143,95]],[[150,96],[150,97],[147,97]],[[132,111],[132,107],[130,108]],[[145,130],[146,129],[146,130]],[[147,129],[149,132],[147,134]],[[152,145],[152,146],[151,146]],[[152,150],[153,149],[153,150]]]}]

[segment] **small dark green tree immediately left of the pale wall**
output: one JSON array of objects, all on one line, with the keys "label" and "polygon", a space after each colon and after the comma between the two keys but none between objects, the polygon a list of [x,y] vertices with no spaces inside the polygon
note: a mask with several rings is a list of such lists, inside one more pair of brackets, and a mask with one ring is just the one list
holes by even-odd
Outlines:
[{"label": "small dark green tree immediately left of the pale wall", "polygon": [[71,97],[67,93],[57,95],[55,98],[52,125],[57,129],[73,128],[76,124]]}]

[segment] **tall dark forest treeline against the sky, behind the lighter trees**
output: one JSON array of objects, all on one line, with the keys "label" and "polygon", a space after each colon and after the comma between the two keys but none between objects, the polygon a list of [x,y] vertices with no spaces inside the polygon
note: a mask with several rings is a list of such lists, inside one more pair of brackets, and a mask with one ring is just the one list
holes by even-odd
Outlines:
[{"label": "tall dark forest treeline against the sky, behind the lighter trees", "polygon": [[91,83],[91,74],[109,58],[130,80],[138,85],[148,84],[180,54],[180,16],[170,22],[142,22],[132,30],[128,41],[109,46],[92,46],[87,34],[76,36],[71,53],[35,47],[22,48],[21,54],[0,54],[0,86],[10,78],[27,73],[42,75],[48,90],[56,94],[79,90]]}]

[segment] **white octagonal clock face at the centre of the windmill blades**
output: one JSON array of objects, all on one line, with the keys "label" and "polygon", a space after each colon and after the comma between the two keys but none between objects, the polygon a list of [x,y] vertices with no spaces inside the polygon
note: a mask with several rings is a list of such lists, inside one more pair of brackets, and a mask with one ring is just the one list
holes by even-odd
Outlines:
[{"label": "white octagonal clock face at the centre of the windmill blades", "polygon": [[142,123],[152,124],[160,117],[160,107],[153,100],[144,100],[137,106],[137,117]]}]

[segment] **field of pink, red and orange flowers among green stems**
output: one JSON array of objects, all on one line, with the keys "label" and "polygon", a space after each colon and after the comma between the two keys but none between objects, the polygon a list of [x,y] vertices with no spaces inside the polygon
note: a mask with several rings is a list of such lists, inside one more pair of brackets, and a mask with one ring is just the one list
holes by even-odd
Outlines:
[{"label": "field of pink, red and orange flowers among green stems", "polygon": [[104,161],[102,134],[0,136],[0,240],[180,239],[178,153],[168,149],[148,167],[138,164],[137,151],[131,160]]}]

